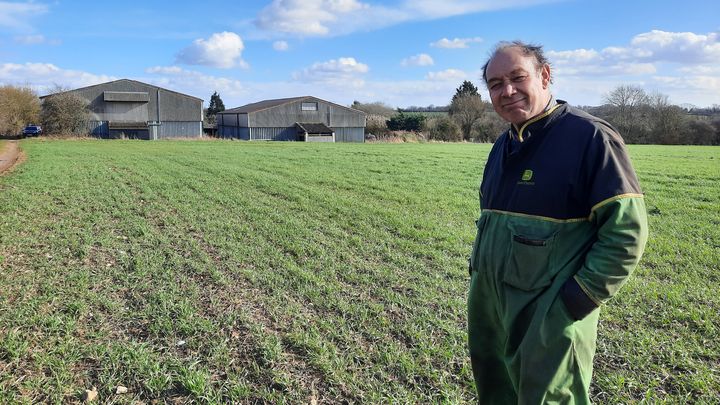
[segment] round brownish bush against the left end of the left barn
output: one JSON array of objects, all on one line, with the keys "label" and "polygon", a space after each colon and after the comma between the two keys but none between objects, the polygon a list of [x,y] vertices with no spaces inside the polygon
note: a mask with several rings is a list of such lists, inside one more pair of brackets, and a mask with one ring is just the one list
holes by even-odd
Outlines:
[{"label": "round brownish bush against the left end of the left barn", "polygon": [[87,100],[66,89],[57,87],[43,100],[40,121],[48,135],[87,135],[88,118]]}]

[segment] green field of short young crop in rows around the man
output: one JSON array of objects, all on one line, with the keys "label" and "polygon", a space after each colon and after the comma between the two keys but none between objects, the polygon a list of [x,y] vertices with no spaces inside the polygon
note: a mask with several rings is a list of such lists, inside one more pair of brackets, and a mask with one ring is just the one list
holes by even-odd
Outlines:
[{"label": "green field of short young crop in rows around the man", "polygon": [[[489,145],[24,140],[0,177],[0,403],[473,403]],[[598,403],[720,397],[720,149],[638,146],[646,254]],[[128,388],[116,394],[116,388]]]}]

